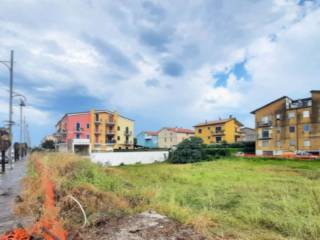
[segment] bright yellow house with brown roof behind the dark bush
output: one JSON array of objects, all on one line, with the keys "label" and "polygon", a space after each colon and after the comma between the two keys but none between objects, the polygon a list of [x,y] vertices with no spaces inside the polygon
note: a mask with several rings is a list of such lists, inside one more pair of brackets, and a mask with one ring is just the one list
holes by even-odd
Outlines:
[{"label": "bright yellow house with brown roof behind the dark bush", "polygon": [[231,116],[227,119],[206,121],[194,126],[195,136],[201,138],[205,144],[235,143],[241,136],[242,126],[242,123]]}]

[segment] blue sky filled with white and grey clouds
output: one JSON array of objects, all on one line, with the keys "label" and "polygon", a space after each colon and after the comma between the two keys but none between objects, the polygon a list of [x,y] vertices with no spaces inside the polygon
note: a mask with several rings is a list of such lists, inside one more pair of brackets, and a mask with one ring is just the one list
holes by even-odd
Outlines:
[{"label": "blue sky filled with white and grey clouds", "polygon": [[[11,49],[33,145],[92,108],[136,133],[229,115],[253,127],[252,110],[320,89],[320,0],[1,0],[0,60]],[[0,125],[7,101],[0,66]]]}]

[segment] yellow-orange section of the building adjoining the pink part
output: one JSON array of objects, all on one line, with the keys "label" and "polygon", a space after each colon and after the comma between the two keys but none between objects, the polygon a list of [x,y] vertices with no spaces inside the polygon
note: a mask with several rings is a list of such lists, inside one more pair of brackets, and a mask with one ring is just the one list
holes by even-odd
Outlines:
[{"label": "yellow-orange section of the building adjoining the pink part", "polygon": [[134,121],[117,112],[91,110],[91,151],[134,147]]}]

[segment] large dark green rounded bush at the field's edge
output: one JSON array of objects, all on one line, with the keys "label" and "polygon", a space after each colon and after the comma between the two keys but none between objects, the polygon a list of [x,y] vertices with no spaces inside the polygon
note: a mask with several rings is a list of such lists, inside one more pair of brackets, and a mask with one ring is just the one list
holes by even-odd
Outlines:
[{"label": "large dark green rounded bush at the field's edge", "polygon": [[171,163],[193,163],[205,159],[204,144],[202,139],[197,137],[183,140],[169,156],[169,162]]}]

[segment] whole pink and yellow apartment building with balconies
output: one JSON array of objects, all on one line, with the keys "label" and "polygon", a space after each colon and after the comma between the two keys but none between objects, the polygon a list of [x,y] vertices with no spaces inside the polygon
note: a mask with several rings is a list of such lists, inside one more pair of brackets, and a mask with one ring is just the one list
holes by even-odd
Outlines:
[{"label": "whole pink and yellow apartment building with balconies", "polygon": [[107,110],[67,113],[56,124],[55,136],[62,151],[89,153],[131,149],[134,121]]}]

